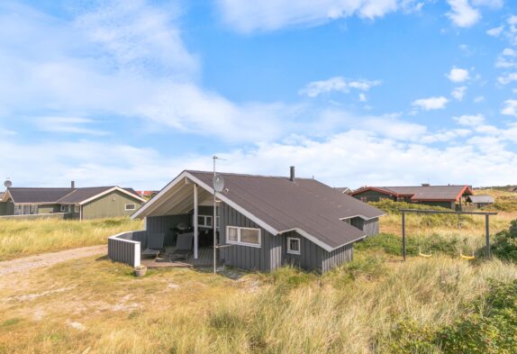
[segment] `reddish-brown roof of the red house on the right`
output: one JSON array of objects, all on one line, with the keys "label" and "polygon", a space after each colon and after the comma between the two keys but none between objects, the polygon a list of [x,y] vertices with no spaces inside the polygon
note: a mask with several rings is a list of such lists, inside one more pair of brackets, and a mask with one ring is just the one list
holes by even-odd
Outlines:
[{"label": "reddish-brown roof of the red house on the right", "polygon": [[365,186],[353,195],[368,189],[378,190],[388,195],[411,196],[414,201],[456,201],[463,194],[472,194],[469,186]]}]

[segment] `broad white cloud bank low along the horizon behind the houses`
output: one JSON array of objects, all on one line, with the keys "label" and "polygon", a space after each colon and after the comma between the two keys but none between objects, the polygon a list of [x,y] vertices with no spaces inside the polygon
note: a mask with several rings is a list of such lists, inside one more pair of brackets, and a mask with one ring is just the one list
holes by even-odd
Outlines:
[{"label": "broad white cloud bank low along the horizon behind the houses", "polygon": [[[510,183],[517,175],[517,154],[506,150],[501,140],[517,136],[515,130],[509,127],[504,132],[472,136],[456,145],[430,147],[423,141],[404,142],[352,129],[323,140],[298,136],[248,150],[214,152],[227,159],[219,164],[221,171],[287,176],[288,167],[295,165],[297,176],[314,176],[331,186],[412,185],[428,177],[434,184],[494,186]],[[456,141],[469,135],[467,130],[452,130],[436,132],[422,140]],[[69,180],[75,179],[79,186],[110,181],[120,186],[159,189],[184,168],[210,170],[211,155],[166,156],[156,150],[94,141],[22,145],[0,141],[0,159],[9,166],[5,172],[15,186],[67,186]],[[335,163],[342,160],[347,163]],[[376,168],[364,168],[365,165]],[[31,166],[32,173],[26,173],[27,166]],[[55,174],[50,176],[46,173],[49,170]]]}]

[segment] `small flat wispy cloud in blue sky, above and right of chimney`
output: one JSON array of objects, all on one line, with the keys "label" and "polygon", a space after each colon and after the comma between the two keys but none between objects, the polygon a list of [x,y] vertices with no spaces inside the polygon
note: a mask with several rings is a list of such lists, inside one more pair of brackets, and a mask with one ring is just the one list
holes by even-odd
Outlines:
[{"label": "small flat wispy cloud in blue sky, above and right of chimney", "polygon": [[349,80],[345,77],[331,77],[327,80],[313,81],[299,91],[300,95],[316,97],[331,92],[349,93],[350,88],[368,91],[373,86],[380,85],[379,80]]}]

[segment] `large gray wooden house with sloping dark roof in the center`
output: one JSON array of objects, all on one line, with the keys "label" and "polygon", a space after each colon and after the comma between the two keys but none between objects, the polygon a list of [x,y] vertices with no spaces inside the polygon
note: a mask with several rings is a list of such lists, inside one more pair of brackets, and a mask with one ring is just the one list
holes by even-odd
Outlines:
[{"label": "large gray wooden house with sloping dark roof in the center", "polygon": [[[222,173],[217,194],[219,260],[271,271],[292,264],[325,272],[353,257],[354,243],[379,231],[384,212],[315,179]],[[145,218],[148,235],[170,234],[180,223],[194,229],[195,258],[212,245],[213,173],[186,170],[132,215]],[[146,236],[147,237],[147,236]],[[168,236],[167,236],[168,238]],[[166,241],[167,243],[167,241]],[[210,246],[209,246],[210,247]]]}]

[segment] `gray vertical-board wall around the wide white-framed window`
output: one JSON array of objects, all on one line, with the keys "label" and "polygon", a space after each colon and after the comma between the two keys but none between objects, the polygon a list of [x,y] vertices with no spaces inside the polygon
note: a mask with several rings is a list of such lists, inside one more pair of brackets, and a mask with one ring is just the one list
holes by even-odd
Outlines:
[{"label": "gray vertical-board wall around the wide white-framed window", "polygon": [[[269,271],[278,267],[278,241],[274,240],[277,236],[272,235],[268,231],[259,227],[255,222],[250,221],[246,216],[237,212],[227,204],[221,203],[221,227],[220,227],[220,243],[226,243],[226,226],[240,226],[260,229],[261,246],[249,247],[241,245],[233,245],[220,249],[219,258],[231,267],[254,269],[261,271]],[[271,249],[275,248],[275,255],[271,253]],[[272,261],[275,262],[272,267]]]}]

